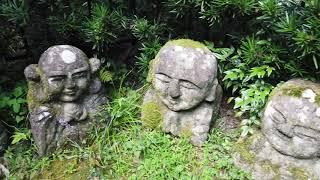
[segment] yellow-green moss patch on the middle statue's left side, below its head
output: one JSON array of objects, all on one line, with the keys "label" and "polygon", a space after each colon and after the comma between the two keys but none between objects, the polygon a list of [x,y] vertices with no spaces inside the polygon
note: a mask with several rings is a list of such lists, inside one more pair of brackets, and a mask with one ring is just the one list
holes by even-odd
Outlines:
[{"label": "yellow-green moss patch on the middle statue's left side, below its head", "polygon": [[147,102],[142,105],[141,121],[144,126],[155,129],[159,128],[163,120],[163,112],[156,102]]}]

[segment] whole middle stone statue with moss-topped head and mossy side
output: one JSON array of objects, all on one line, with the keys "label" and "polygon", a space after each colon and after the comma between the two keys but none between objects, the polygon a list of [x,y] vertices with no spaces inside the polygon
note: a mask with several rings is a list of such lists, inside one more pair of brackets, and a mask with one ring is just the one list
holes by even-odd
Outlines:
[{"label": "whole middle stone statue with moss-topped head and mossy side", "polygon": [[208,137],[222,96],[217,61],[196,41],[169,41],[151,61],[142,122],[176,136],[189,137],[201,146]]}]

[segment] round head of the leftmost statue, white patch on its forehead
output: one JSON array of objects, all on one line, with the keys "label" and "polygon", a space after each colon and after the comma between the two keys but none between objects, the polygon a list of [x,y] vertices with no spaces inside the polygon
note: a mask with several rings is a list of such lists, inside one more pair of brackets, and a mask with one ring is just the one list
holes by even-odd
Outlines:
[{"label": "round head of the leftmost statue, white patch on its forehead", "polygon": [[55,46],[45,53],[39,67],[47,93],[64,102],[77,100],[90,83],[88,58],[71,46]]}]

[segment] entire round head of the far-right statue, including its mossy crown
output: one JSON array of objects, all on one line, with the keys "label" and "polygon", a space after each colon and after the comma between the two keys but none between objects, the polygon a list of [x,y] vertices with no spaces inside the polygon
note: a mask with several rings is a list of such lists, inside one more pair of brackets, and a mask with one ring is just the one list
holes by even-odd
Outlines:
[{"label": "entire round head of the far-right statue, including its mossy crown", "polygon": [[267,104],[263,133],[284,155],[320,157],[320,85],[294,80],[282,86],[284,92],[275,93]]}]

